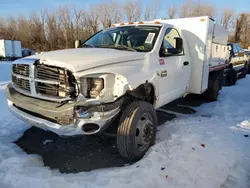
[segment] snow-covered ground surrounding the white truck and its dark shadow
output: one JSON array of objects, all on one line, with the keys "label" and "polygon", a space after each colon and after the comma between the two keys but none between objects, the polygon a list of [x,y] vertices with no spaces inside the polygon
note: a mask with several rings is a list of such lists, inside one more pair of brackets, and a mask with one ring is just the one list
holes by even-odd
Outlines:
[{"label": "snow-covered ground surrounding the white truck and its dark shadow", "polygon": [[38,155],[13,143],[29,126],[7,109],[9,80],[10,63],[0,62],[0,188],[250,187],[250,76],[223,88],[217,102],[159,127],[156,145],[141,161],[78,174],[44,167]]}]

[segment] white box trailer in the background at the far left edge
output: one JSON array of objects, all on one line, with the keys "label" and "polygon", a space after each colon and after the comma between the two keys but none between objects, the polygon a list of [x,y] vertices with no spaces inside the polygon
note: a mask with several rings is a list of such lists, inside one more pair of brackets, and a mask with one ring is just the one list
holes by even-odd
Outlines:
[{"label": "white box trailer in the background at the far left edge", "polygon": [[0,40],[0,59],[18,59],[22,57],[21,41]]}]

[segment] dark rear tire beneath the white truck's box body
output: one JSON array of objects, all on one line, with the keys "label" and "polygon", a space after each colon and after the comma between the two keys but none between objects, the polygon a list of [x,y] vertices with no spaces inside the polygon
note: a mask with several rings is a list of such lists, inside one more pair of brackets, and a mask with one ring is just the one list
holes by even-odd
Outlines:
[{"label": "dark rear tire beneath the white truck's box body", "polygon": [[208,89],[204,93],[205,100],[209,102],[216,101],[218,96],[219,96],[219,91],[220,91],[220,78],[217,77],[215,79],[211,79],[208,82]]}]

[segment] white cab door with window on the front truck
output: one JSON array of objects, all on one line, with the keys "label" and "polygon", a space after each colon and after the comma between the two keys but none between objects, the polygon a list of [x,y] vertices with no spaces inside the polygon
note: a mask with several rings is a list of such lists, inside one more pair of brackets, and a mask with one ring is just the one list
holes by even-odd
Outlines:
[{"label": "white cab door with window on the front truck", "polygon": [[176,45],[179,45],[177,42],[180,40],[183,41],[177,29],[166,29],[159,52],[158,80],[161,104],[182,97],[188,89],[191,65],[184,49],[177,51]]}]

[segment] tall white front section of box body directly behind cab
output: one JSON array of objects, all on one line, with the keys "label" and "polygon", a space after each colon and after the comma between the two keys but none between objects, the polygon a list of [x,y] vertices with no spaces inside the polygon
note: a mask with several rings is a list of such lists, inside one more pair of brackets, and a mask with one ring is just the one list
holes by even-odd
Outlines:
[{"label": "tall white front section of box body directly behind cab", "polygon": [[191,78],[188,89],[190,93],[200,94],[207,89],[209,67],[206,58],[209,58],[207,54],[211,53],[211,48],[207,46],[209,21],[209,17],[167,20],[167,23],[181,29],[188,46],[185,53],[186,55],[189,53],[191,59]]}]

